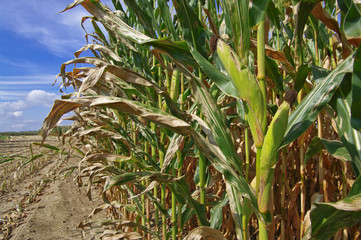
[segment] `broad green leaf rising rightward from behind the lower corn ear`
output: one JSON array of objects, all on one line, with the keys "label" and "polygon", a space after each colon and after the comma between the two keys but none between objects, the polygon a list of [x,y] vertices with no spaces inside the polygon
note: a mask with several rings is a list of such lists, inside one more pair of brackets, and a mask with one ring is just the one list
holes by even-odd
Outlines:
[{"label": "broad green leaf rising rightward from behind the lower corn ear", "polygon": [[352,71],[349,56],[322,80],[297,106],[288,119],[283,146],[301,136],[316,119],[319,111],[331,100],[346,73]]}]

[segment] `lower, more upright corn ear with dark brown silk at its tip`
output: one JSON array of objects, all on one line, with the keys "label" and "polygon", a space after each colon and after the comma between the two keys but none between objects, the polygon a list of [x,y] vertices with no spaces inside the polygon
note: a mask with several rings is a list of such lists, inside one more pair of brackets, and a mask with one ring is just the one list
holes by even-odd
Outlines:
[{"label": "lower, more upright corn ear with dark brown silk at its tip", "polygon": [[291,104],[296,96],[296,91],[286,93],[286,101],[278,108],[264,138],[261,152],[260,186],[258,193],[258,206],[261,213],[267,213],[268,211],[270,191],[273,185],[274,166],[277,162],[277,152],[283,142]]}]

